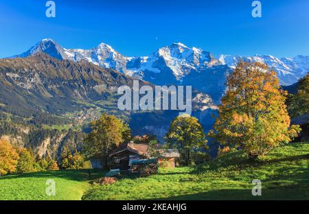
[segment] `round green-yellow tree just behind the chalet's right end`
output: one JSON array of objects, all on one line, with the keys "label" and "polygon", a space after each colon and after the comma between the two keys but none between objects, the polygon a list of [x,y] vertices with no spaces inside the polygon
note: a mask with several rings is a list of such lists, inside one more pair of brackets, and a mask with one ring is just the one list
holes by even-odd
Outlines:
[{"label": "round green-yellow tree just behind the chalet's right end", "polygon": [[165,134],[166,143],[170,147],[176,147],[184,164],[192,163],[192,154],[207,149],[203,127],[196,117],[181,115],[171,123]]}]

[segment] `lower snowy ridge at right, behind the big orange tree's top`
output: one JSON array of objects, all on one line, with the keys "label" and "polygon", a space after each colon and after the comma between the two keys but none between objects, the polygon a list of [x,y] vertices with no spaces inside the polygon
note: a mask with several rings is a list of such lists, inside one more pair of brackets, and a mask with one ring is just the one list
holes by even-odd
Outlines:
[{"label": "lower snowy ridge at right, behind the big orange tree's top", "polygon": [[235,69],[236,64],[240,61],[264,62],[271,69],[277,72],[280,84],[291,85],[297,82],[309,71],[309,57],[297,56],[291,58],[276,58],[271,55],[255,55],[255,56],[232,56],[221,55],[219,58],[220,64],[227,64],[232,69]]}]

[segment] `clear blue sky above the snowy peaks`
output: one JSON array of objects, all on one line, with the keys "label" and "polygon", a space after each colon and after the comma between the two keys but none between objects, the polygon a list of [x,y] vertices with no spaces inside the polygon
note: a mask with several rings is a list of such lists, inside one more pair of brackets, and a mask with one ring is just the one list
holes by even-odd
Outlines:
[{"label": "clear blue sky above the snowy peaks", "polygon": [[56,18],[45,16],[46,1],[0,0],[0,58],[42,38],[66,48],[104,42],[126,56],[145,56],[173,42],[215,56],[309,55],[308,0],[261,0],[262,18],[256,19],[253,0],[54,0]]}]

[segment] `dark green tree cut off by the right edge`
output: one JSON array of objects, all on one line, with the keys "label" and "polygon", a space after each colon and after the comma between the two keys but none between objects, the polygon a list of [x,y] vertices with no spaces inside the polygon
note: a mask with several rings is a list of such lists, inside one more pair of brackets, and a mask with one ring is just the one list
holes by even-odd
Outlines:
[{"label": "dark green tree cut off by the right edge", "polygon": [[309,73],[299,80],[297,93],[288,96],[287,104],[291,117],[309,114]]}]

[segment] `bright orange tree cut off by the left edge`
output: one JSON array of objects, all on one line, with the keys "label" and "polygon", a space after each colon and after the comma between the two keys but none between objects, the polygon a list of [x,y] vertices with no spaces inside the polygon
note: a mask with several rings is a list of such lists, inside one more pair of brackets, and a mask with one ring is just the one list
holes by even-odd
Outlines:
[{"label": "bright orange tree cut off by the left edge", "polygon": [[5,139],[0,139],[0,176],[16,171],[19,154]]}]

